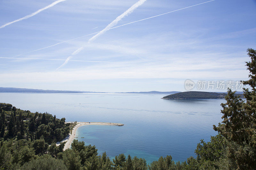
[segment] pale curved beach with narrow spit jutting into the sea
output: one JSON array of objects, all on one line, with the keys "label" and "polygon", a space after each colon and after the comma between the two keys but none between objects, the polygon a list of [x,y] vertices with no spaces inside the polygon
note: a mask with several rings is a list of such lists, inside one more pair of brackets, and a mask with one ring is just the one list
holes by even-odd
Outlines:
[{"label": "pale curved beach with narrow spit jutting into the sea", "polygon": [[66,149],[68,149],[71,145],[71,143],[73,142],[74,138],[76,137],[76,130],[77,128],[79,128],[80,126],[83,125],[113,125],[113,126],[123,126],[124,124],[121,123],[106,123],[106,122],[77,122],[76,126],[72,129],[72,134],[69,134],[67,137],[65,137],[65,139],[63,139],[62,141],[56,143],[56,145],[60,145],[60,143],[62,142],[66,142],[65,146],[64,146],[64,151]]}]

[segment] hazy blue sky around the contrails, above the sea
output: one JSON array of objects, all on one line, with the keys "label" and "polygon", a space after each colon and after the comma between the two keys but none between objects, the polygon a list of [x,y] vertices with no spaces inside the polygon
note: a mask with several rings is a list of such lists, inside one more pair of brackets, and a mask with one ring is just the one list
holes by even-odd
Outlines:
[{"label": "hazy blue sky around the contrails, above the sea", "polygon": [[[0,0],[0,25],[52,2]],[[249,60],[246,49],[256,48],[255,0],[215,0],[108,30],[91,43],[87,41],[93,35],[27,53],[101,31],[136,2],[67,0],[0,29],[0,57],[65,60],[84,46],[72,60],[108,62],[69,61],[56,70],[64,61],[0,58],[0,86],[99,92],[184,91],[186,79],[248,78],[244,62]],[[117,26],[203,2],[147,0]]]}]

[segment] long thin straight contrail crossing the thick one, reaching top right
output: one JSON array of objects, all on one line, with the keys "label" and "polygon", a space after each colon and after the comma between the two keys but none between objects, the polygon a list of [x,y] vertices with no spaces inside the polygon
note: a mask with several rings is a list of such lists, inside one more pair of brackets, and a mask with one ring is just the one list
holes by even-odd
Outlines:
[{"label": "long thin straight contrail crossing the thick one, reaching top right", "polygon": [[[190,8],[190,7],[193,7],[193,6],[205,4],[205,3],[208,3],[208,2],[212,2],[212,1],[215,1],[215,0],[207,1],[207,2],[204,2],[204,3],[192,5],[192,6],[188,6],[188,7],[181,8],[181,9],[178,9],[178,10],[175,10],[175,11],[180,11],[180,10],[183,10],[183,9],[186,9],[186,8]],[[114,29],[114,28],[118,28],[118,27],[121,27],[121,26],[126,26],[126,25],[129,25],[129,24],[133,24],[133,23],[136,23],[136,22],[139,22],[139,21],[143,21],[143,20],[146,20],[146,19],[155,18],[155,17],[161,16],[161,15],[165,15],[165,14],[168,14],[168,13],[171,13],[171,12],[175,12],[175,11],[170,11],[170,12],[166,12],[166,13],[163,13],[163,14],[159,14],[159,15],[153,16],[153,17],[140,19],[140,20],[133,21],[133,22],[130,22],[130,23],[127,23],[127,24],[123,24],[123,25],[120,25],[120,26],[115,26],[115,27],[109,28],[109,30]],[[76,39],[79,39],[79,38],[82,38],[82,37],[85,37],[85,36],[89,36],[89,35],[93,35],[93,34],[96,34],[96,33],[100,33],[100,31],[95,32],[95,33],[90,33],[90,34],[87,34],[87,35],[83,35],[83,36],[80,36],[80,37],[76,37],[76,38],[74,38],[74,39],[70,39],[70,40],[67,40],[67,41],[62,41],[62,42],[59,42],[59,43],[57,43],[57,44],[53,44],[53,45],[48,46],[48,47],[44,47],[44,48],[36,49],[36,50],[33,50],[33,51],[29,51],[29,52],[26,52],[26,53],[23,53],[23,54],[27,54],[27,53],[31,53],[31,52],[34,52],[34,51],[39,51],[39,50],[41,50],[41,49],[53,47],[53,46],[56,46],[56,45],[59,45],[59,44],[62,44],[62,43],[68,42],[68,41],[76,40]],[[23,55],[23,54],[19,54],[19,55],[16,55],[16,56],[20,56],[20,55]]]}]

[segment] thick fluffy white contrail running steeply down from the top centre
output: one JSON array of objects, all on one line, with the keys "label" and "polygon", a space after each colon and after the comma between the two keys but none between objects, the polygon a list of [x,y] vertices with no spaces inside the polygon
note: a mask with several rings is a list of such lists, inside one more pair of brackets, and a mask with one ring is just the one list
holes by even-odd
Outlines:
[{"label": "thick fluffy white contrail running steeply down from the top centre", "polygon": [[[138,8],[140,5],[142,5],[146,1],[147,0],[139,0],[137,3],[133,4],[128,10],[126,10],[124,13],[122,13],[121,15],[116,17],[116,19],[113,20],[110,24],[108,24],[108,26],[106,26],[103,30],[101,30],[99,33],[97,33],[92,38],[90,38],[88,40],[88,43],[90,43],[91,41],[95,40],[97,37],[99,37],[103,33],[106,33],[111,27],[115,26],[122,18],[124,18],[124,17],[128,16],[129,14],[131,14],[136,8]],[[83,49],[84,49],[84,46],[82,46],[82,47],[78,48],[76,51],[74,51],[72,53],[72,55],[69,56],[66,59],[66,61],[62,65],[60,65],[60,67],[57,68],[57,70],[60,69],[61,67],[63,67],[64,65],[66,65],[68,63],[68,60],[70,60],[70,58],[72,58],[73,55],[78,54]]]}]

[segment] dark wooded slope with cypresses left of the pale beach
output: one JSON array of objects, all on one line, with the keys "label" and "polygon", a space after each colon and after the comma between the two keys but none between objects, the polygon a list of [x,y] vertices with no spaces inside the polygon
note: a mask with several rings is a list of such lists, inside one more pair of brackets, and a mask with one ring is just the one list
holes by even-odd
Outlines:
[{"label": "dark wooded slope with cypresses left of the pale beach", "polygon": [[57,119],[48,113],[31,113],[12,107],[11,104],[0,103],[0,137],[4,139],[43,138],[51,144],[65,138],[70,132],[70,123],[65,118]]}]

